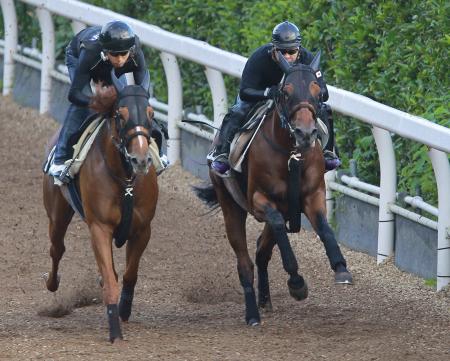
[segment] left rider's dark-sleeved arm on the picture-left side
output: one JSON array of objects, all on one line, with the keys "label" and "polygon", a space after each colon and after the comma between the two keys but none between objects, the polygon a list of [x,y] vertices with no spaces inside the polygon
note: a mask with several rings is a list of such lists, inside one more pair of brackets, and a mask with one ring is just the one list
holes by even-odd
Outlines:
[{"label": "left rider's dark-sleeved arm on the picture-left side", "polygon": [[83,88],[91,81],[89,70],[92,67],[92,59],[84,49],[80,51],[78,66],[75,68],[73,82],[69,90],[69,101],[81,107],[87,107],[91,98],[83,94]]}]

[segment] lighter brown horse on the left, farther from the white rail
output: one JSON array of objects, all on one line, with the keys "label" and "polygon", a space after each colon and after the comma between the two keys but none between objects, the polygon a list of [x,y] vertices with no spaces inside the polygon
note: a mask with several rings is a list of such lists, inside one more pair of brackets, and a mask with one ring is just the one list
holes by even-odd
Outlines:
[{"label": "lighter brown horse on the left, farther from the white rail", "polygon": [[[150,223],[155,215],[158,184],[149,152],[153,110],[148,103],[147,75],[143,85],[124,86],[112,72],[117,95],[108,104],[94,97],[95,110],[108,114],[81,166],[76,182],[84,220],[91,235],[97,266],[103,287],[103,302],[107,307],[109,339],[122,339],[119,316],[127,321],[131,314],[139,260],[151,234]],[[46,285],[55,292],[59,286],[58,265],[65,251],[64,235],[74,210],[62,189],[54,185],[53,177],[44,175],[44,205],[50,221],[50,256],[52,269]],[[126,268],[119,303],[119,283],[113,263],[112,240],[124,214],[122,202],[132,197],[131,223],[124,241]],[[128,218],[129,219],[129,218]],[[115,239],[117,244],[117,238]],[[118,306],[119,303],[119,306]]]}]

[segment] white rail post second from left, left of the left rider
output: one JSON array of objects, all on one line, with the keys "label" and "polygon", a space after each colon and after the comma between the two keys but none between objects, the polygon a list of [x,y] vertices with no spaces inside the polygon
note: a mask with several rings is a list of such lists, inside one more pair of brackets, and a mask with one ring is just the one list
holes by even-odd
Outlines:
[{"label": "white rail post second from left, left of the left rider", "polygon": [[52,15],[46,9],[37,8],[36,14],[42,33],[42,69],[41,69],[41,98],[39,112],[50,110],[50,92],[52,89],[51,72],[55,67],[55,29]]}]

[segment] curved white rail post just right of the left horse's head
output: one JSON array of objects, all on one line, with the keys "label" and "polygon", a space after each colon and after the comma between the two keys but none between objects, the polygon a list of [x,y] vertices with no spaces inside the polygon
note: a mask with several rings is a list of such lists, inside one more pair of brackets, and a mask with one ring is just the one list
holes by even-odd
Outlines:
[{"label": "curved white rail post just right of the left horse's head", "polygon": [[167,128],[169,131],[169,140],[167,141],[167,156],[173,164],[180,159],[181,154],[181,132],[178,122],[181,122],[183,114],[183,87],[181,83],[180,68],[175,55],[161,52],[161,60],[166,74],[168,89]]}]

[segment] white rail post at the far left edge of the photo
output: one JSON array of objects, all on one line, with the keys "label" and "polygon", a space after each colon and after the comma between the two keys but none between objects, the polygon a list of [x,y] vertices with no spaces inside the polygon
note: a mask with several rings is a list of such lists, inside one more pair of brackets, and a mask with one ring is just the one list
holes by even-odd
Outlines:
[{"label": "white rail post at the far left edge of the photo", "polygon": [[17,16],[13,0],[1,0],[5,29],[3,58],[3,95],[12,92],[14,83],[14,55],[17,51]]}]

